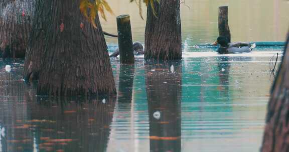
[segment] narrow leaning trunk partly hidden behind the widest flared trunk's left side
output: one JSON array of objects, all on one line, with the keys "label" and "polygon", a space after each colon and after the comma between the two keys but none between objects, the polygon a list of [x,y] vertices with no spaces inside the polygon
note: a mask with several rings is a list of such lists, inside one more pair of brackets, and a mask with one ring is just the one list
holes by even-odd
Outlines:
[{"label": "narrow leaning trunk partly hidden behind the widest flared trunk's left side", "polygon": [[27,46],[25,63],[24,63],[24,79],[37,80],[41,67],[41,60],[45,49],[46,36],[49,32],[52,20],[52,9],[43,9],[44,7],[52,7],[53,0],[37,0],[36,12],[34,16],[34,24],[30,33]]}]

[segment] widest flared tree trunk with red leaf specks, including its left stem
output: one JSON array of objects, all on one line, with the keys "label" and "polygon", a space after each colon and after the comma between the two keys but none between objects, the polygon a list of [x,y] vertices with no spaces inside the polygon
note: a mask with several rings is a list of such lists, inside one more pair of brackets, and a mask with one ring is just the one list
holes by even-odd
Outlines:
[{"label": "widest flared tree trunk with red leaf specks, including its left stem", "polygon": [[[24,76],[39,75],[38,94],[74,96],[116,92],[99,18],[96,16],[97,28],[94,28],[81,14],[79,5],[80,0],[37,0],[36,31],[30,40],[31,54],[26,58]],[[44,17],[47,13],[49,18]],[[43,41],[37,46],[40,38]]]}]

